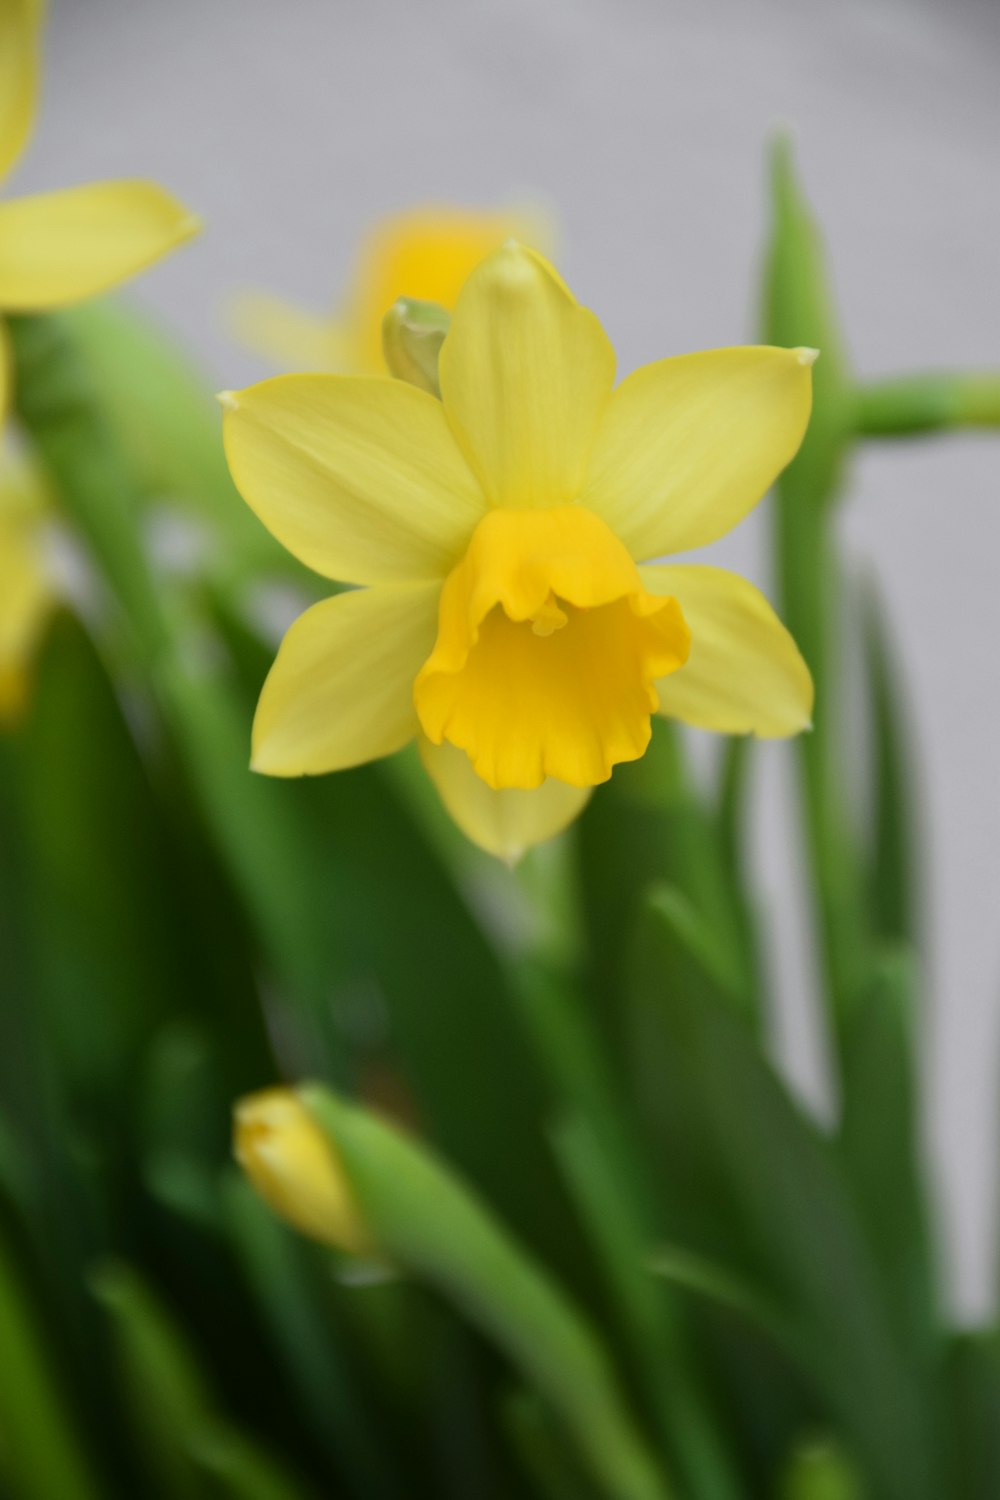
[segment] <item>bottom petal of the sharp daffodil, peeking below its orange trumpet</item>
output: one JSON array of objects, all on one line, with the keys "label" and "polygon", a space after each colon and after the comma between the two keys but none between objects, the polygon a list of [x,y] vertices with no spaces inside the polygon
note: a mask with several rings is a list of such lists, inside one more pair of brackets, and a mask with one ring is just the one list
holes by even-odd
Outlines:
[{"label": "bottom petal of the sharp daffodil, peeking below its orange trumpet", "polygon": [[510,864],[562,832],[591,798],[591,788],[552,778],[531,792],[498,792],[475,774],[463,750],[423,736],[418,744],[427,776],[466,838]]}]

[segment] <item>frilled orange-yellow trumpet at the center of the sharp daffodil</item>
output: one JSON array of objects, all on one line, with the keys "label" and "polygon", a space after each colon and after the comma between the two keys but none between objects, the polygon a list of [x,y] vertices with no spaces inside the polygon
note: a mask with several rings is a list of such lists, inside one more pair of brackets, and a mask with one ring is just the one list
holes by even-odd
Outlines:
[{"label": "frilled orange-yellow trumpet at the center of the sharp daffodil", "polygon": [[678,602],[643,590],[594,512],[492,510],[441,591],[414,704],[427,738],[496,790],[595,786],[645,752],[655,681],[690,640]]}]

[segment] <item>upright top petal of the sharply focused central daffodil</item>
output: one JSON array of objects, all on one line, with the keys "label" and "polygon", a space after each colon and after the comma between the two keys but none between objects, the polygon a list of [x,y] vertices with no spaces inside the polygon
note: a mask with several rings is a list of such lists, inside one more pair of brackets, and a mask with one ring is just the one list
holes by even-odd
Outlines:
[{"label": "upright top petal of the sharply focused central daffodil", "polygon": [[441,350],[441,398],[498,506],[577,498],[615,380],[615,351],[556,272],[505,244],[465,284]]}]

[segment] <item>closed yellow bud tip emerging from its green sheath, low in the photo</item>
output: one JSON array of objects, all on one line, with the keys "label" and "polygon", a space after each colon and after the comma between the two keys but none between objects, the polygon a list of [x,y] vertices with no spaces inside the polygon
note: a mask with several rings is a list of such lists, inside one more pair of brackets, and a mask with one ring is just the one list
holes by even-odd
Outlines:
[{"label": "closed yellow bud tip emerging from its green sheath, low in the photo", "polygon": [[303,1234],[349,1256],[375,1252],[333,1146],[292,1089],[240,1100],[234,1154],[268,1208]]}]

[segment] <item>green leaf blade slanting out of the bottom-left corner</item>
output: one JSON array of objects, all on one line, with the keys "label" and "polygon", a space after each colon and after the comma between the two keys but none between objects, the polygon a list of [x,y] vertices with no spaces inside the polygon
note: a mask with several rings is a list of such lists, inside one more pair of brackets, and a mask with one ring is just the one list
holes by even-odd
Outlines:
[{"label": "green leaf blade slanting out of the bottom-left corner", "polygon": [[18,1500],[100,1500],[27,1286],[0,1239],[0,1479]]}]

